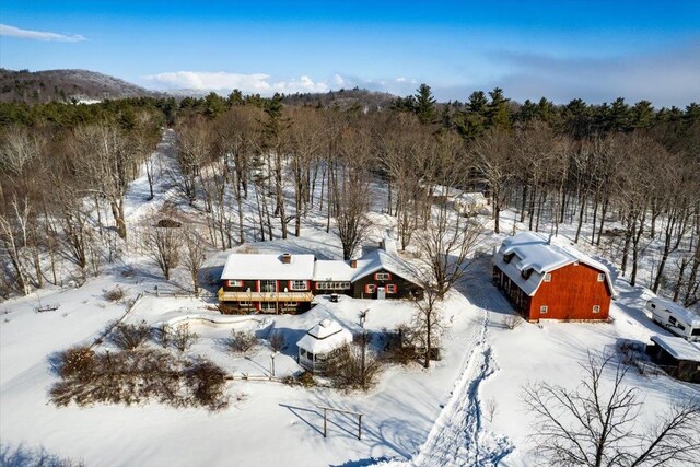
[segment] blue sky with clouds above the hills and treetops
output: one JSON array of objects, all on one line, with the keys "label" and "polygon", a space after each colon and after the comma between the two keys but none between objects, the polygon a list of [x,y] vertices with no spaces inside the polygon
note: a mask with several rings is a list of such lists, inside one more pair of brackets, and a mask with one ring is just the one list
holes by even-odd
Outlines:
[{"label": "blue sky with clouds above the hills and treetops", "polygon": [[695,1],[12,1],[0,66],[83,68],[150,89],[524,101],[700,101]]}]

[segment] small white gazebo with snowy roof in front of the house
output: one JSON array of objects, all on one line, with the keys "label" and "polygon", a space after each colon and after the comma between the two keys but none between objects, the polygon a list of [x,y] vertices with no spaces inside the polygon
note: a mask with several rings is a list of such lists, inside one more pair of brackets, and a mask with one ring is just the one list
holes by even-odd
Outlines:
[{"label": "small white gazebo with snowy roof in front of the house", "polygon": [[302,337],[299,347],[299,364],[312,373],[323,373],[326,364],[346,345],[352,342],[352,332],[331,319],[324,319]]}]

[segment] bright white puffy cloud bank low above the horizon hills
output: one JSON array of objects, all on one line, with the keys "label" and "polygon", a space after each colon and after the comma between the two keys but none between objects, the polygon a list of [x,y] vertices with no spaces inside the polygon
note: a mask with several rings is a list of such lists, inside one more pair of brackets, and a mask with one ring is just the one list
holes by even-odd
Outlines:
[{"label": "bright white puffy cloud bank low above the horizon hills", "polygon": [[271,95],[276,92],[291,93],[314,93],[327,92],[329,86],[322,82],[314,82],[307,75],[302,75],[299,80],[272,81],[269,74],[265,73],[228,73],[224,71],[175,71],[158,73],[143,77],[144,80],[154,86],[166,90],[194,89],[211,91],[241,90],[244,93],[259,93]]}]

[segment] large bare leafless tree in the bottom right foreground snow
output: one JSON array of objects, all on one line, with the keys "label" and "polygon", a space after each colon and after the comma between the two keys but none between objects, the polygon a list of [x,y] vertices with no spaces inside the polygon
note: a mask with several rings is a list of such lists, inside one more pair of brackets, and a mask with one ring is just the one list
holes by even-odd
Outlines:
[{"label": "large bare leafless tree in the bottom right foreground snow", "polygon": [[[548,465],[661,466],[700,462],[698,400],[669,407],[651,430],[640,430],[639,389],[623,384],[628,366],[588,355],[576,389],[546,382],[523,388],[536,416],[537,452]],[[611,383],[606,387],[607,373]]]}]

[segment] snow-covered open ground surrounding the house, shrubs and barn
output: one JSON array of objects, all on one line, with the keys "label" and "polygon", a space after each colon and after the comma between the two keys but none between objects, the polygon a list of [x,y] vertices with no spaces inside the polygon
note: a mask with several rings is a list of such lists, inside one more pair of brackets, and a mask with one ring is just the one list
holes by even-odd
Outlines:
[{"label": "snow-covered open ground surrounding the house, shrubs and barn", "polygon": [[[161,165],[170,163],[162,154],[154,157],[164,159],[159,160]],[[127,197],[128,221],[132,223],[162,207],[168,192],[163,182],[159,195],[144,201],[144,178],[132,184]],[[375,242],[394,220],[378,212],[372,215],[375,229],[371,242]],[[506,212],[502,219],[513,218],[514,213]],[[511,232],[513,226],[504,221],[502,230]],[[570,237],[571,232],[562,226],[560,234]],[[490,252],[502,237],[487,236],[480,249]],[[305,221],[302,237],[253,243],[245,248],[313,252],[320,258],[338,258],[341,252],[332,232],[325,232],[323,217],[313,215]],[[217,277],[228,253],[210,252],[202,275]],[[533,420],[522,402],[524,384],[547,381],[573,388],[588,352],[608,352],[619,339],[646,342],[651,335],[666,332],[643,311],[651,293],[629,287],[617,273],[620,296],[611,306],[612,323],[522,324],[508,329],[503,319],[513,311],[491,284],[489,260],[485,255],[477,261],[442,304],[446,326],[443,360],[430,370],[419,365],[387,367],[378,385],[366,394],[307,389],[266,380],[272,351],[265,338],[271,329],[283,332],[288,347],[275,364],[276,374],[284,376],[300,371],[294,343],[320,319],[332,317],[357,331],[360,312],[369,310],[368,329],[392,329],[411,319],[410,303],[345,296],[339,303],[329,303],[319,297],[312,311],[299,316],[254,316],[218,325],[190,320],[200,339],[187,352],[206,355],[236,376],[228,386],[233,402],[220,412],[158,404],[57,408],[48,401],[48,390],[58,381],[51,365],[55,353],[94,342],[108,323],[125,315],[138,295],[142,297],[130,308],[127,322],[155,325],[188,315],[221,316],[210,295],[172,295],[183,291],[186,271],[175,271],[167,283],[145,258],[132,252],[78,289],[43,290],[7,301],[0,304],[2,458],[44,452],[83,460],[88,466],[533,465],[537,458],[528,437],[534,432]],[[107,301],[104,293],[117,284],[127,291],[126,299]],[[156,285],[160,296],[154,293]],[[210,287],[209,292],[214,289]],[[59,307],[35,312],[45,305]],[[231,329],[255,330],[260,343],[249,355],[232,355],[223,343]],[[109,345],[100,349],[108,350]],[[259,381],[238,378],[243,375],[258,376]],[[698,385],[665,376],[630,372],[627,383],[644,396],[641,424],[652,421],[668,401],[700,397]],[[330,416],[324,439],[319,405],[364,413],[362,440],[357,439],[355,419],[343,415]]]}]

